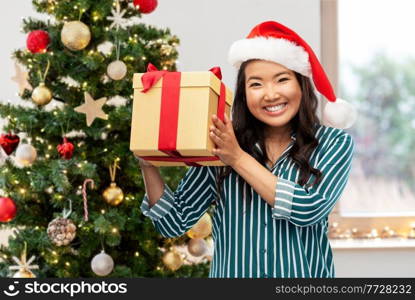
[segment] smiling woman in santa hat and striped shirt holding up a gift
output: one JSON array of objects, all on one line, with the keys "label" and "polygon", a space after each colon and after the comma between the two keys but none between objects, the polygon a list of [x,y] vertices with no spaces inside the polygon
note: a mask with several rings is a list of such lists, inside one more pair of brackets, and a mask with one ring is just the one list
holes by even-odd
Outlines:
[{"label": "smiling woman in santa hat and striped shirt holding up a gift", "polygon": [[213,154],[227,166],[191,167],[172,192],[140,159],[141,209],[173,237],[214,204],[209,277],[334,277],[328,215],[347,183],[354,144],[344,130],[319,123],[310,78],[338,102],[326,119],[334,123],[331,113],[340,119],[350,107],[336,101],[311,48],[279,23],[256,26],[229,57],[239,67],[232,121],[214,115],[210,128]]}]

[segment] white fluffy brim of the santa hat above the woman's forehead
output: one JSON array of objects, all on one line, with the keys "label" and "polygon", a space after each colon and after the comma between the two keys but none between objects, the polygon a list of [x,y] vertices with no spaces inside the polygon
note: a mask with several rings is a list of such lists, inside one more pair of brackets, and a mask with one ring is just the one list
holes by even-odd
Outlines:
[{"label": "white fluffy brim of the santa hat above the woman's forehead", "polygon": [[311,78],[308,53],[286,39],[255,37],[234,42],[228,53],[230,64],[239,68],[250,59],[263,59],[279,63],[286,68]]}]

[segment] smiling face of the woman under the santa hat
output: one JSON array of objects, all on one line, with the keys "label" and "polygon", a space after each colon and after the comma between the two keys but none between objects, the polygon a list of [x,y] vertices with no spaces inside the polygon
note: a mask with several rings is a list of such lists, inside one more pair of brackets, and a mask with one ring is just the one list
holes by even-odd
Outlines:
[{"label": "smiling face of the woman under the santa hat", "polygon": [[245,68],[248,109],[270,127],[285,127],[297,114],[301,87],[293,71],[265,60],[249,62]]}]

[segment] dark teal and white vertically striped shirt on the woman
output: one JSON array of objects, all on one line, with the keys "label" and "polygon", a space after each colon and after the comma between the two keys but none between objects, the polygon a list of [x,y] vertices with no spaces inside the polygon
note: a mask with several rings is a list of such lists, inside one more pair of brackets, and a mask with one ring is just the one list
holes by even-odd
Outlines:
[{"label": "dark teal and white vertically striped shirt on the woman", "polygon": [[[319,145],[310,164],[323,177],[310,187],[297,184],[298,167],[288,153],[295,134],[291,138],[274,166],[265,166],[278,177],[273,207],[246,183],[241,187],[241,177],[234,170],[223,182],[222,200],[214,201],[218,167],[205,166],[190,167],[175,192],[165,185],[151,208],[145,194],[141,210],[159,233],[176,237],[215,204],[209,277],[334,277],[328,215],[347,183],[354,142],[344,130],[318,125]],[[311,175],[307,183],[314,178]],[[251,200],[246,200],[247,192]]]}]

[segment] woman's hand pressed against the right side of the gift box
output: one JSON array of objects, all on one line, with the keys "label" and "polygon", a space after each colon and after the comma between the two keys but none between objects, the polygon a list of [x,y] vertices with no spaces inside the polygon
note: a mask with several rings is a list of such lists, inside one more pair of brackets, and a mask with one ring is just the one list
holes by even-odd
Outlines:
[{"label": "woman's hand pressed against the right side of the gift box", "polygon": [[228,119],[226,114],[224,122],[216,115],[212,115],[212,121],[213,124],[210,127],[209,136],[216,145],[216,147],[212,149],[212,154],[218,156],[224,164],[233,166],[238,158],[241,157],[243,151],[236,139],[232,122]]}]

